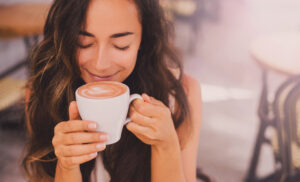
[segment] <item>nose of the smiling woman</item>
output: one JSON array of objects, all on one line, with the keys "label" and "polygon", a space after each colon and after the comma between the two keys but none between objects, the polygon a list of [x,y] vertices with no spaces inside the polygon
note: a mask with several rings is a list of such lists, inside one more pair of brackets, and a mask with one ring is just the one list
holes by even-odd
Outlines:
[{"label": "nose of the smiling woman", "polygon": [[109,61],[108,51],[105,46],[100,46],[98,48],[94,66],[98,72],[105,72],[110,68],[111,62]]}]

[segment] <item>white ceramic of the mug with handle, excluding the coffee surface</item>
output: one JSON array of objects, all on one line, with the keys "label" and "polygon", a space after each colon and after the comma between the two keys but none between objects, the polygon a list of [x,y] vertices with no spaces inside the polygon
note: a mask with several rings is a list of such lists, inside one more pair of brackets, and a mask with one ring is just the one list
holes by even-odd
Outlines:
[{"label": "white ceramic of the mug with handle, excluding the coffee surface", "polygon": [[139,94],[130,95],[127,85],[124,85],[126,91],[115,97],[109,98],[87,98],[78,94],[78,88],[75,92],[79,114],[83,120],[97,122],[96,131],[108,134],[106,144],[113,144],[120,140],[123,126],[130,122],[126,118],[130,103],[135,99],[143,99]]}]

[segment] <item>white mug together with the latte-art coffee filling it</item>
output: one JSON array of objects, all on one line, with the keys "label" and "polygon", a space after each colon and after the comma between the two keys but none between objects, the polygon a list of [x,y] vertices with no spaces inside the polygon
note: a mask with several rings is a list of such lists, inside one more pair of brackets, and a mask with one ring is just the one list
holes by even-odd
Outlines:
[{"label": "white mug together with the latte-art coffee filling it", "polygon": [[106,144],[120,140],[123,126],[130,122],[126,118],[130,103],[142,99],[139,94],[130,95],[127,85],[115,81],[85,84],[76,90],[75,96],[81,118],[97,122],[96,131],[108,134]]}]

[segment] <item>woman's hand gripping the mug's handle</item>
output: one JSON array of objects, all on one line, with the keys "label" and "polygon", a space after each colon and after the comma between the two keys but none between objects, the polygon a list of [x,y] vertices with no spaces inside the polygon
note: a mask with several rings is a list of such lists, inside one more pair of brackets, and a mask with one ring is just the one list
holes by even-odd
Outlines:
[{"label": "woman's hand gripping the mug's handle", "polygon": [[129,110],[129,122],[126,127],[142,142],[161,148],[178,144],[178,136],[173,124],[170,109],[161,101],[146,94],[145,101],[136,99]]}]

